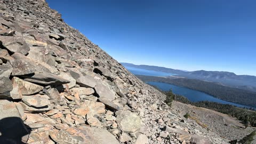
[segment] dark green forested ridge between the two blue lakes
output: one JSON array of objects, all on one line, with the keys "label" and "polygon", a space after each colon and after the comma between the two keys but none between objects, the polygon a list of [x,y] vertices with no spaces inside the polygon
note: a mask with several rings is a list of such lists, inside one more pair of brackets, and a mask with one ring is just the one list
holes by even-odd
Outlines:
[{"label": "dark green forested ridge between the two blue lakes", "polygon": [[219,83],[201,81],[197,79],[188,78],[165,78],[165,77],[154,77],[154,76],[142,76],[137,75],[142,81],[149,82],[164,82],[173,85],[179,85],[187,87],[189,89],[198,90],[207,94],[213,95],[216,98],[227,100],[242,105],[255,107],[256,105],[256,93],[228,87]]}]

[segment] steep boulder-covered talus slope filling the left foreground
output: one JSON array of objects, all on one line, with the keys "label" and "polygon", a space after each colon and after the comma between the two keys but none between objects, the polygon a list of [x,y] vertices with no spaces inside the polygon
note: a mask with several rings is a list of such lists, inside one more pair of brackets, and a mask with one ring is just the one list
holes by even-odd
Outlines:
[{"label": "steep boulder-covered talus slope filling the left foreground", "polygon": [[68,26],[0,0],[0,143],[225,143]]}]

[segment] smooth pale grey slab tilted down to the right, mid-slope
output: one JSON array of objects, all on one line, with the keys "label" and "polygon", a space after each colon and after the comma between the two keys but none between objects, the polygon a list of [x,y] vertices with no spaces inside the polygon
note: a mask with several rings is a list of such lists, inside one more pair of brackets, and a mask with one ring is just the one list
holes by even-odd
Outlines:
[{"label": "smooth pale grey slab tilted down to the right, mid-slope", "polygon": [[99,97],[107,98],[110,101],[115,100],[115,92],[111,91],[109,87],[104,85],[102,82],[98,81],[96,86],[94,87],[96,93],[99,95]]}]

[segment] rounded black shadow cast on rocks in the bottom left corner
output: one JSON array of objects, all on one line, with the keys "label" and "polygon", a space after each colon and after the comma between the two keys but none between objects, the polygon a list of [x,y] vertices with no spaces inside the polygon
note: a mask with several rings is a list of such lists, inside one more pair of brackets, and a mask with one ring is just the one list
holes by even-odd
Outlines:
[{"label": "rounded black shadow cast on rocks in the bottom left corner", "polygon": [[29,133],[29,127],[20,117],[7,117],[0,120],[1,144],[27,143]]}]

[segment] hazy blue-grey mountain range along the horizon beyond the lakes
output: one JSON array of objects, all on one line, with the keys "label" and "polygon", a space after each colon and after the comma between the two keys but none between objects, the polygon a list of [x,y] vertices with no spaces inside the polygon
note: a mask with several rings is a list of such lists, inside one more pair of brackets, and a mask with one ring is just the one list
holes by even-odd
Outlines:
[{"label": "hazy blue-grey mountain range along the horizon beyond the lakes", "polygon": [[178,76],[200,79],[203,81],[218,82],[223,85],[228,85],[231,87],[236,87],[238,89],[256,91],[256,76],[250,75],[236,75],[235,73],[230,73],[227,71],[185,71],[178,69],[171,69],[165,67],[148,66],[148,65],[133,65],[132,63],[122,63],[123,66],[162,71],[165,73],[173,73]]}]

